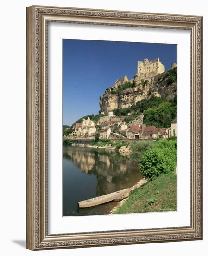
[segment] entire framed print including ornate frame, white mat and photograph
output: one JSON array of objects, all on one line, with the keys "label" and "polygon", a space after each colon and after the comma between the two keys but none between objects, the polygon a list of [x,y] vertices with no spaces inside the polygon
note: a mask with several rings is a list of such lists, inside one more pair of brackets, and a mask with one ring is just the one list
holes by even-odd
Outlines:
[{"label": "entire framed print including ornate frame, white mat and photograph", "polygon": [[27,8],[27,248],[202,239],[202,17]]}]

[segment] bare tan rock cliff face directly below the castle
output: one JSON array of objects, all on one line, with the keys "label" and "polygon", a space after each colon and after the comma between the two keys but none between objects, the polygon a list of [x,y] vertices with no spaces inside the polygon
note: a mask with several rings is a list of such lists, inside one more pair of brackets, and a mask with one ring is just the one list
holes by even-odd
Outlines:
[{"label": "bare tan rock cliff face directly below the castle", "polygon": [[106,89],[99,102],[101,111],[107,114],[115,108],[128,108],[151,95],[173,99],[176,94],[176,82],[168,83],[165,74],[166,72],[158,74],[154,79],[148,79],[147,83],[135,81],[135,87],[120,92],[114,88]]}]

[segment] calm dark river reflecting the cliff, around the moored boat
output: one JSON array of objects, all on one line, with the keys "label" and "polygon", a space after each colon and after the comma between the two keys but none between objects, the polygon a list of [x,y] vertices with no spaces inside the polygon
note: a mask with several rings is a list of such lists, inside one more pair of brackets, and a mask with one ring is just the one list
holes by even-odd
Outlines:
[{"label": "calm dark river reflecting the cliff, around the moored boat", "polygon": [[129,188],[140,179],[137,164],[119,153],[63,145],[63,216],[108,214],[118,202],[89,208],[77,202]]}]

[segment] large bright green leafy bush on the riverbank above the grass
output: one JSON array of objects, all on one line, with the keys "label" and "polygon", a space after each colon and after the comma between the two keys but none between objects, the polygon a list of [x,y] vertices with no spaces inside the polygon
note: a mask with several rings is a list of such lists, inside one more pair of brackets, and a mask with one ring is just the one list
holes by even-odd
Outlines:
[{"label": "large bright green leafy bush on the riverbank above the grass", "polygon": [[155,179],[162,173],[176,170],[177,141],[160,140],[155,142],[140,158],[141,173],[149,180]]}]

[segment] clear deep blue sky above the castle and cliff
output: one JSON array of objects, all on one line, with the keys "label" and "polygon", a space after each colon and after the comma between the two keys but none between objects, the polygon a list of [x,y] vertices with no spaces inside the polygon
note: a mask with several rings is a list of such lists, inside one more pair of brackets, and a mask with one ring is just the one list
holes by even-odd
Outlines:
[{"label": "clear deep blue sky above the castle and cliff", "polygon": [[176,45],[63,39],[63,124],[98,114],[99,97],[117,78],[133,78],[137,61],[176,63]]}]

